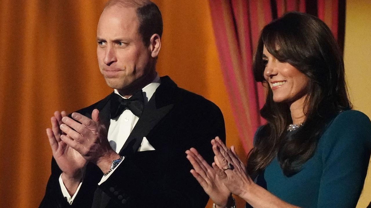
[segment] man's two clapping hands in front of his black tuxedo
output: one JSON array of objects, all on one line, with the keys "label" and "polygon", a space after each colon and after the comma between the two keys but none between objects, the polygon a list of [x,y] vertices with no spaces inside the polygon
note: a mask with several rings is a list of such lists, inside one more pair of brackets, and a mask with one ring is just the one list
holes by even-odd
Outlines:
[{"label": "man's two clapping hands in front of his black tuxedo", "polygon": [[72,118],[67,117],[65,111],[56,111],[51,118],[52,128],[46,129],[53,157],[71,195],[82,180],[88,161],[105,173],[110,170],[111,161],[120,157],[109,145],[107,130],[99,120],[97,109],[92,111],[92,118],[79,113],[72,113]]}]

